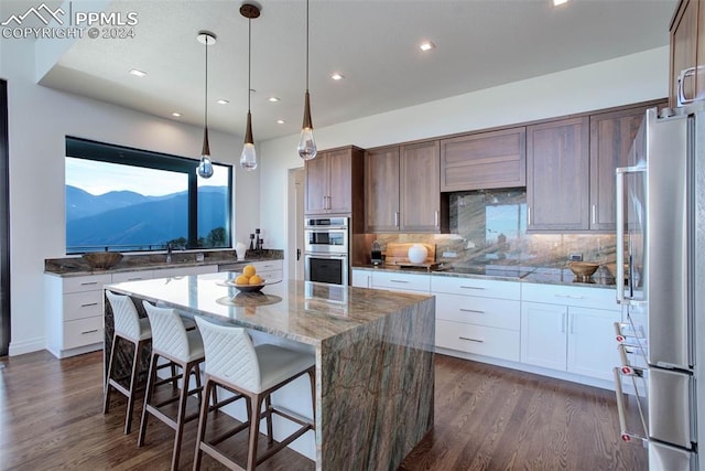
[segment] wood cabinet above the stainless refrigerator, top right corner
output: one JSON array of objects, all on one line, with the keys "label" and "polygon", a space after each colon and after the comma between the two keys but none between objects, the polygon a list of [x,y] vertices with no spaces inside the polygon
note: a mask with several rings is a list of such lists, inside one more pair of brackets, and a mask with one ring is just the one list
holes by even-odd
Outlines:
[{"label": "wood cabinet above the stainless refrigerator, top right corner", "polygon": [[[686,99],[705,98],[705,2],[681,0],[671,28],[671,63],[669,104],[677,106],[679,93]],[[679,77],[691,69],[679,92]]]}]

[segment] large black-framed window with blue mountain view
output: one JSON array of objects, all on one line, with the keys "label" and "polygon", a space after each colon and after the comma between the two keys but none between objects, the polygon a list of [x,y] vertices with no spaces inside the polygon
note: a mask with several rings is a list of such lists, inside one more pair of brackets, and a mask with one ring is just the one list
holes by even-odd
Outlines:
[{"label": "large black-framed window with blue mountain view", "polygon": [[66,138],[66,254],[229,248],[232,167]]}]

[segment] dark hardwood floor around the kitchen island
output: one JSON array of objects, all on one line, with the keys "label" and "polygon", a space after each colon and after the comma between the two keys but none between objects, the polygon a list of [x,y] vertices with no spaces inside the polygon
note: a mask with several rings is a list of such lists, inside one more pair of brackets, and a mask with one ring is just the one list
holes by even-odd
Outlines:
[{"label": "dark hardwood floor around the kitchen island", "polygon": [[[0,469],[169,469],[173,431],[150,420],[147,443],[137,448],[139,420],[122,433],[119,394],[102,414],[101,368],[100,352],[0,358]],[[646,450],[619,440],[611,392],[443,355],[435,388],[435,427],[400,470],[647,469]],[[180,469],[192,467],[195,428],[186,427]],[[242,462],[246,449],[243,440],[231,443]],[[203,469],[221,467],[205,457]],[[314,465],[284,450],[261,469]]]}]

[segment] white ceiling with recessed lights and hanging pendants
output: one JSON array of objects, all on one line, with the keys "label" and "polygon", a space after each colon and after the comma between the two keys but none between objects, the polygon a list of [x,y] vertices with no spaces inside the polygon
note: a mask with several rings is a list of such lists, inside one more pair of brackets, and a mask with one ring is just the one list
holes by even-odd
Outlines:
[{"label": "white ceiling with recessed lights and hanging pendants", "polygon": [[[76,2],[74,2],[76,3]],[[132,39],[76,41],[44,86],[203,126],[205,46],[210,129],[243,135],[248,21],[242,2],[110,1],[137,12]],[[26,4],[26,3],[25,3]],[[263,0],[252,20],[254,139],[299,132],[305,2]],[[310,89],[316,128],[668,44],[676,0],[312,0]],[[436,47],[422,52],[419,43]],[[143,78],[131,68],[148,73]],[[338,72],[344,79],[334,82]],[[576,90],[579,93],[579,90]],[[269,103],[275,96],[278,103]],[[229,100],[217,105],[218,98]],[[172,118],[178,111],[181,118]],[[285,124],[276,124],[278,119]]]}]

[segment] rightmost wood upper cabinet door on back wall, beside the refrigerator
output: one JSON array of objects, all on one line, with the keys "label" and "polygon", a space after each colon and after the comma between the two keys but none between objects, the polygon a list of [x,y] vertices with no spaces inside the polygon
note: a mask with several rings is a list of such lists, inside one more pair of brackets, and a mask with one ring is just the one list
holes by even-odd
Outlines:
[{"label": "rightmost wood upper cabinet door on back wall, beside the refrigerator", "polygon": [[615,231],[615,169],[629,165],[629,149],[647,107],[590,116],[590,229]]}]

